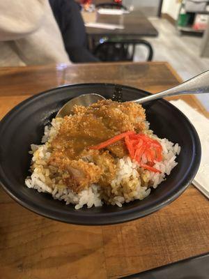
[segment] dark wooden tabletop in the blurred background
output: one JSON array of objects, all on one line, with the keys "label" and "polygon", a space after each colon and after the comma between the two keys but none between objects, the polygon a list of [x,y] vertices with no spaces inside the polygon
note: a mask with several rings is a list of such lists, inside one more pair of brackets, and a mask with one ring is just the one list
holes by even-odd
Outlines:
[{"label": "dark wooden tabletop in the blurred background", "polygon": [[100,13],[82,13],[84,22],[100,22],[107,24],[123,25],[124,29],[102,29],[86,27],[88,36],[157,36],[158,32],[153,24],[139,10],[122,15],[102,15]]}]

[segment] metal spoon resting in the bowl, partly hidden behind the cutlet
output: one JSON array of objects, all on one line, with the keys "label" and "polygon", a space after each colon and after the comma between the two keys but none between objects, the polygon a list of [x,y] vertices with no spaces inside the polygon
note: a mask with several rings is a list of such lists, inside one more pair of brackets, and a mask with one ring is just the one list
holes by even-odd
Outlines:
[{"label": "metal spoon resting in the bowl, partly hidden behind the cutlet", "polygon": [[[196,77],[192,77],[190,80],[187,80],[186,82],[183,82],[182,84],[179,84],[175,87],[172,87],[160,93],[146,96],[144,98],[132,100],[132,102],[142,104],[150,100],[157,100],[164,97],[196,93],[209,93],[209,70],[201,73],[200,75],[196,75]],[[84,94],[77,98],[73,98],[72,100],[69,100],[69,102],[66,103],[63,107],[61,107],[61,110],[59,110],[59,112],[56,114],[56,117],[69,115],[72,112],[72,107],[74,105],[88,106],[98,102],[98,100],[103,99],[105,98],[95,93]]]}]

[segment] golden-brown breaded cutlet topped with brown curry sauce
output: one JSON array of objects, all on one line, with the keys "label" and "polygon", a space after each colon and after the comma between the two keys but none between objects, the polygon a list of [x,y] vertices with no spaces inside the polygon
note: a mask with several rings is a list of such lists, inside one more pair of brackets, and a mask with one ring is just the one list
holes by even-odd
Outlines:
[{"label": "golden-brown breaded cutlet topped with brown curry sauce", "polygon": [[[121,140],[101,151],[88,147],[127,130],[143,133],[145,111],[136,103],[102,100],[90,107],[75,106],[73,113],[64,117],[52,140],[48,163],[64,174],[63,184],[76,193],[92,183],[108,187],[116,173],[115,158],[128,156],[125,143]],[[90,162],[87,158],[91,158]]]}]

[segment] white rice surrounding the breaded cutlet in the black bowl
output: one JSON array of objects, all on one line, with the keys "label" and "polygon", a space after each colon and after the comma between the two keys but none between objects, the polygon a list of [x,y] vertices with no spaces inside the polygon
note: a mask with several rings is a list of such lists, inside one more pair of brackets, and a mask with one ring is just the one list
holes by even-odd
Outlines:
[{"label": "white rice surrounding the breaded cutlet in the black bowl", "polygon": [[[54,199],[64,200],[65,204],[75,204],[75,209],[81,209],[84,204],[88,208],[92,206],[102,206],[101,188],[99,185],[91,185],[88,189],[82,190],[79,193],[74,193],[70,188],[66,186],[56,185],[52,188],[46,183],[49,178],[49,169],[45,167],[47,165],[47,159],[50,157],[50,149],[48,142],[52,142],[52,139],[56,136],[59,126],[63,119],[53,119],[52,126],[45,127],[45,135],[42,137],[42,145],[31,144],[31,151],[33,154],[32,163],[36,163],[35,169],[31,176],[26,178],[26,186],[38,190],[38,192],[49,193]],[[130,157],[124,157],[117,161],[116,177],[111,181],[111,193],[113,197],[109,199],[109,203],[117,206],[122,206],[124,202],[131,202],[134,199],[144,199],[150,195],[151,188],[148,187],[148,183],[153,188],[166,179],[166,175],[171,174],[171,169],[175,167],[176,155],[180,153],[180,146],[173,144],[167,139],[159,139],[156,137],[162,145],[162,162],[155,162],[156,169],[159,172],[150,172],[147,169],[143,174],[137,172],[139,166],[136,162],[132,162]],[[142,158],[146,163],[146,158]],[[43,169],[45,170],[43,172]],[[146,186],[141,186],[141,181],[144,181]],[[130,190],[132,189],[132,190]],[[128,192],[125,192],[127,191]],[[119,194],[118,194],[119,193]]]}]

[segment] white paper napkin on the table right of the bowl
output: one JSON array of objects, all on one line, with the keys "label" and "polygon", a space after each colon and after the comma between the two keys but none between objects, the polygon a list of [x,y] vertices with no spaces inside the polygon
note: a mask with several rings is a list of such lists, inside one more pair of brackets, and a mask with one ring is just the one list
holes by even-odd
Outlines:
[{"label": "white paper napkin on the table right of the bowl", "polygon": [[192,184],[209,198],[209,120],[183,100],[172,100],[170,103],[187,116],[199,135],[202,150],[201,165]]}]

